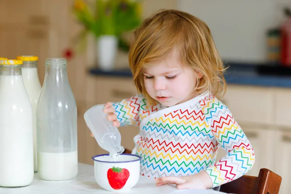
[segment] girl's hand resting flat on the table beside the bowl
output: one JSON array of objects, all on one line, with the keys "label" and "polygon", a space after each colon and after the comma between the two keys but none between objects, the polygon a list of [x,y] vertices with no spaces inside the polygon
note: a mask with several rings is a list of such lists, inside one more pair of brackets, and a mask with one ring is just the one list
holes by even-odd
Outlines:
[{"label": "girl's hand resting flat on the table beside the bowl", "polygon": [[212,187],[212,181],[206,171],[184,177],[155,178],[156,185],[176,184],[178,189],[208,189]]}]

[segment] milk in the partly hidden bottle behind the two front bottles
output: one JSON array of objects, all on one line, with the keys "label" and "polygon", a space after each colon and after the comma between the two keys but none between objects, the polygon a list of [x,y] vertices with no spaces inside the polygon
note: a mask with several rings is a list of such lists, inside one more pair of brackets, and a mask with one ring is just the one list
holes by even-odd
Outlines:
[{"label": "milk in the partly hidden bottle behind the two front bottles", "polygon": [[33,118],[33,162],[34,172],[37,172],[37,141],[36,141],[36,107],[37,101],[41,92],[41,85],[38,79],[37,68],[21,68],[22,79],[32,105]]}]

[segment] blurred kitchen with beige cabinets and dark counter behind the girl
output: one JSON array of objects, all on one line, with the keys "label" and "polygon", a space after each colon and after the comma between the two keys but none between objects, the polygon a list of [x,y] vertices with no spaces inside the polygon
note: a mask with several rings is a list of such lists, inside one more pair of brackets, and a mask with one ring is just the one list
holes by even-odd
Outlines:
[{"label": "blurred kitchen with beige cabinets and dark counter behind the girl", "polygon": [[[136,90],[126,51],[118,49],[113,68],[105,70],[98,64],[100,49],[94,35],[77,41],[84,26],[73,7],[73,0],[0,0],[0,57],[38,56],[41,83],[46,58],[67,58],[68,79],[78,108],[79,162],[93,164],[91,157],[105,151],[90,136],[83,114],[95,104],[119,101]],[[291,56],[281,56],[291,48],[291,36],[282,41],[280,29],[288,26],[291,34],[290,12],[285,9],[291,9],[291,1],[143,0],[142,18],[161,8],[189,12],[209,25],[223,60],[230,66],[227,92],[221,100],[255,149],[256,163],[248,174],[258,176],[260,168],[269,168],[282,176],[280,193],[289,193]],[[120,131],[122,146],[132,149],[139,129],[120,127]]]}]

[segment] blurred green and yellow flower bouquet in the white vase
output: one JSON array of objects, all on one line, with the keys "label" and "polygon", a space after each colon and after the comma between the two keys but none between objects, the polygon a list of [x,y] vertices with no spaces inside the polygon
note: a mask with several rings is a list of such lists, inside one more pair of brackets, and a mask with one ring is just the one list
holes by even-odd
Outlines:
[{"label": "blurred green and yellow flower bouquet in the white vase", "polygon": [[[91,2],[91,4],[90,4]],[[101,35],[115,35],[118,48],[128,52],[129,44],[122,39],[122,34],[135,30],[142,22],[142,0],[94,0],[84,3],[82,9],[73,9],[73,14],[84,30],[79,41],[84,42],[85,33],[92,33],[98,38]],[[84,47],[84,43],[81,43]]]}]

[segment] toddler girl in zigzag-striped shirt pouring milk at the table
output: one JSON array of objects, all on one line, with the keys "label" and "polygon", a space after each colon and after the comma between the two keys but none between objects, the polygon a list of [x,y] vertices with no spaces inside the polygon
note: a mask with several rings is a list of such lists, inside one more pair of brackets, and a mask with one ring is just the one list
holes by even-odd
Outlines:
[{"label": "toddler girl in zigzag-striped shirt pouring milk at the table", "polygon": [[[223,62],[199,18],[163,10],[135,31],[129,66],[138,95],[105,105],[116,127],[136,125],[132,151],[157,186],[207,189],[240,178],[254,150],[225,104]],[[216,161],[221,146],[226,155]]]}]

